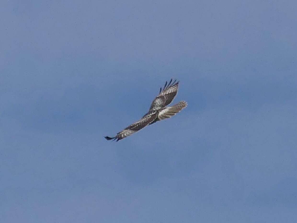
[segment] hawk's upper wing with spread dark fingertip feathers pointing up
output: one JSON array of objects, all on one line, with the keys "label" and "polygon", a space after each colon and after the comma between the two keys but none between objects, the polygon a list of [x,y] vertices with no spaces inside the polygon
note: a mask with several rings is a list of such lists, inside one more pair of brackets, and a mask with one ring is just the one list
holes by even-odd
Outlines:
[{"label": "hawk's upper wing with spread dark fingertip feathers pointing up", "polygon": [[156,111],[165,107],[166,105],[169,105],[172,102],[178,90],[178,82],[176,82],[176,80],[173,83],[171,82],[172,79],[168,84],[166,81],[163,90],[162,88],[160,88],[160,93],[151,103],[149,111]]}]

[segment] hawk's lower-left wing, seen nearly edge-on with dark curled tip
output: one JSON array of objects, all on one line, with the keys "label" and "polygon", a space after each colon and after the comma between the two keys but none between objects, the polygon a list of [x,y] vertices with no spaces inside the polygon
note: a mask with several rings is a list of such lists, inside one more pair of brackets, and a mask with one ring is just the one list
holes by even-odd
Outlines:
[{"label": "hawk's lower-left wing, seen nearly edge-on with dark curled tip", "polygon": [[120,131],[119,133],[117,133],[117,135],[115,137],[105,136],[105,139],[107,139],[107,140],[113,139],[113,140],[116,140],[116,141],[124,139],[125,137],[127,137],[129,135],[132,135],[133,133],[139,131],[140,129],[142,129],[144,127],[146,127],[147,125],[152,123],[156,118],[157,118],[157,113],[147,114],[146,116],[144,116],[139,121],[133,123],[132,125],[129,125],[123,131]]}]

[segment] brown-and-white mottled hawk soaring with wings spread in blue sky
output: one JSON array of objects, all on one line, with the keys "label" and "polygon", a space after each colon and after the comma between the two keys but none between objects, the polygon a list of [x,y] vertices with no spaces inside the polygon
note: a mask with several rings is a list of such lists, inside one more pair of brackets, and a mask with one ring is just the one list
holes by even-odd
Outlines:
[{"label": "brown-and-white mottled hawk soaring with wings spread in blue sky", "polygon": [[149,112],[146,113],[142,117],[142,119],[133,123],[132,125],[129,125],[124,130],[118,132],[114,137],[105,136],[105,139],[107,140],[113,139],[113,140],[119,141],[129,135],[132,135],[133,133],[139,131],[140,129],[143,129],[147,125],[151,125],[157,121],[170,118],[176,113],[180,112],[185,107],[187,107],[187,102],[185,101],[180,101],[171,107],[166,107],[175,98],[178,90],[178,83],[179,81],[176,82],[176,80],[172,82],[172,79],[170,80],[169,83],[167,83],[166,81],[163,87],[163,90],[161,87],[159,95],[151,103]]}]

